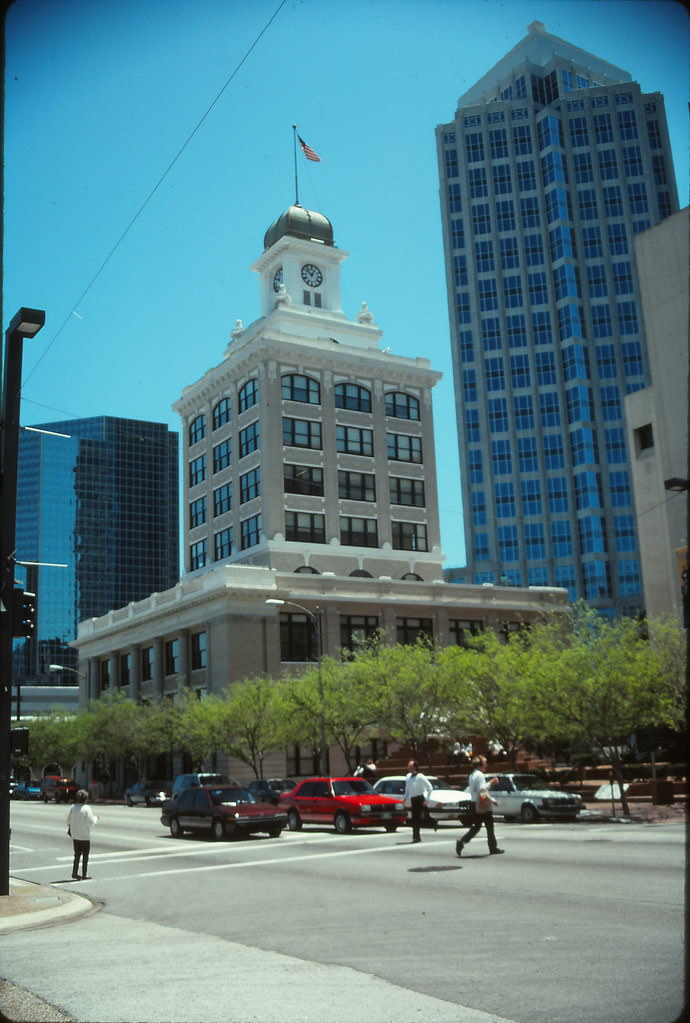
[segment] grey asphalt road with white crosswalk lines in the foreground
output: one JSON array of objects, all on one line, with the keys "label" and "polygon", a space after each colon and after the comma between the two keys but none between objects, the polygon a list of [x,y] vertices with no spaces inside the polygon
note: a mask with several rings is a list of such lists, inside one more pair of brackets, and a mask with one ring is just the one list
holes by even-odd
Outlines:
[{"label": "grey asphalt road with white crosswalk lines in the foreground", "polygon": [[[98,809],[96,807],[96,809]],[[13,803],[14,876],[102,903],[0,939],[0,976],[87,1021],[671,1023],[683,1009],[685,829],[171,839],[103,806],[73,883],[63,806]]]}]

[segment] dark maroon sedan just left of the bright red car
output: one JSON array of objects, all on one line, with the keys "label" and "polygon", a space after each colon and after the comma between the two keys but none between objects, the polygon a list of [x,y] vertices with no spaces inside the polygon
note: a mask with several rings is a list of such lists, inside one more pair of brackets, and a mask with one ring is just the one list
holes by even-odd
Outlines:
[{"label": "dark maroon sedan just left of the bright red car", "polygon": [[176,799],[166,801],[161,814],[161,824],[170,828],[173,838],[181,838],[185,831],[203,832],[217,839],[255,832],[278,838],[287,822],[284,810],[259,803],[248,789],[227,785],[185,789]]}]

